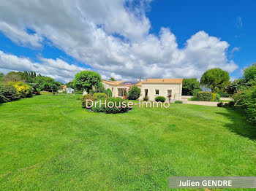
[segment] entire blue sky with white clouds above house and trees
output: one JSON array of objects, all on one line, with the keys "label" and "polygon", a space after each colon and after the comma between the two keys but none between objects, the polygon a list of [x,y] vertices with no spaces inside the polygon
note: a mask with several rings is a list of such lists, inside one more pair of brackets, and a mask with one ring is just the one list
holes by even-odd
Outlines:
[{"label": "entire blue sky with white clouds above house and trees", "polygon": [[241,77],[255,59],[256,1],[0,1],[0,72],[36,71],[69,82]]}]

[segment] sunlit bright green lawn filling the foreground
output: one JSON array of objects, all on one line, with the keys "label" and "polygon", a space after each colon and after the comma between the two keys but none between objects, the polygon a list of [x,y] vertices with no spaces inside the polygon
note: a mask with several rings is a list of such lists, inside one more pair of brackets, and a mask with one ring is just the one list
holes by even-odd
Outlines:
[{"label": "sunlit bright green lawn filling the foreground", "polygon": [[256,176],[255,127],[188,104],[125,114],[64,95],[0,105],[0,190],[168,190],[168,176]]}]

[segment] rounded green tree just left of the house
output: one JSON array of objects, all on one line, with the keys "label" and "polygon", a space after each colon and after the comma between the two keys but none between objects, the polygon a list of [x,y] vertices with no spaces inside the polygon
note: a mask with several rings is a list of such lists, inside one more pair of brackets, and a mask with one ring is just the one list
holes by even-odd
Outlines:
[{"label": "rounded green tree just left of the house", "polygon": [[92,87],[99,85],[101,82],[100,75],[95,71],[80,71],[75,74],[73,86],[77,90],[86,90],[87,93],[92,90]]}]

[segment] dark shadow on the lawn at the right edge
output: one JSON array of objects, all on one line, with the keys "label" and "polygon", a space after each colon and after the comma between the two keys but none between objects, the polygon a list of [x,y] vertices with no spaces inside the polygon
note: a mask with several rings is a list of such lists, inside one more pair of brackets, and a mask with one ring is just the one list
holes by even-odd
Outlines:
[{"label": "dark shadow on the lawn at the right edge", "polygon": [[252,122],[245,120],[241,109],[238,108],[226,108],[228,113],[217,112],[217,114],[222,114],[225,117],[228,117],[232,123],[226,124],[225,126],[234,133],[237,133],[240,136],[247,137],[252,140],[256,140],[256,128]]}]

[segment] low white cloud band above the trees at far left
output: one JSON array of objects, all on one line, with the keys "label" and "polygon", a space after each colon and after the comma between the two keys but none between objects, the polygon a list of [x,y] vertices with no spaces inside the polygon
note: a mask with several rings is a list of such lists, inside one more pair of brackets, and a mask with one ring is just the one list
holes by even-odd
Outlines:
[{"label": "low white cloud band above the trees at far left", "polygon": [[69,82],[78,71],[86,70],[70,65],[59,58],[56,60],[40,58],[40,60],[40,63],[36,63],[29,60],[29,58],[20,58],[0,50],[0,71],[4,73],[9,71],[36,71],[61,82]]}]

